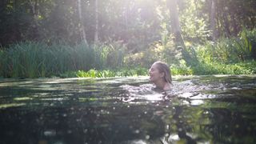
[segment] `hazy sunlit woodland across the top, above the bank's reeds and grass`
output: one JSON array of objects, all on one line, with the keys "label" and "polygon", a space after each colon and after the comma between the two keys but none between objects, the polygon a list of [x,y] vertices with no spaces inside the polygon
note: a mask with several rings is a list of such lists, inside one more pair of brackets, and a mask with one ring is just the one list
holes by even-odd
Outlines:
[{"label": "hazy sunlit woodland across the top, above the bank's reeds and grass", "polygon": [[0,45],[121,41],[136,53],[171,40],[175,16],[185,41],[204,42],[255,28],[255,7],[255,0],[1,0]]}]

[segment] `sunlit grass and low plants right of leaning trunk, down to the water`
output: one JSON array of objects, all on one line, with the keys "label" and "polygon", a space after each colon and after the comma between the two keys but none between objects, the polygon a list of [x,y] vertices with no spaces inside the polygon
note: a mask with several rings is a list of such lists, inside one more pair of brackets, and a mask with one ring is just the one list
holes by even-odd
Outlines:
[{"label": "sunlit grass and low plants right of leaning trunk, down to the water", "polygon": [[255,74],[255,37],[255,30],[243,30],[238,38],[191,47],[198,59],[191,67],[193,74]]}]

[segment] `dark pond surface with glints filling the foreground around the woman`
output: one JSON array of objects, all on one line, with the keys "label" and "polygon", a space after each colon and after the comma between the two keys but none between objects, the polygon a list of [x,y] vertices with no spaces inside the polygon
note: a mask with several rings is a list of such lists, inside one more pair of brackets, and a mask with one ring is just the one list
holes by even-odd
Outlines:
[{"label": "dark pond surface with glints filling the foreground around the woman", "polygon": [[255,143],[256,76],[1,79],[0,143]]}]

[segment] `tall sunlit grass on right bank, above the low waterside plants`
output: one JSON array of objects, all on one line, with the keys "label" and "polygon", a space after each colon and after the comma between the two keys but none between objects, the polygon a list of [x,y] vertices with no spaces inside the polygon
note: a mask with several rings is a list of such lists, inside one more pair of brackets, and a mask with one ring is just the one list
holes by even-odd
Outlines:
[{"label": "tall sunlit grass on right bank, above the low waterside plants", "polygon": [[206,42],[198,46],[197,54],[201,61],[243,62],[255,59],[256,29],[243,30],[238,38],[220,38],[218,42]]}]

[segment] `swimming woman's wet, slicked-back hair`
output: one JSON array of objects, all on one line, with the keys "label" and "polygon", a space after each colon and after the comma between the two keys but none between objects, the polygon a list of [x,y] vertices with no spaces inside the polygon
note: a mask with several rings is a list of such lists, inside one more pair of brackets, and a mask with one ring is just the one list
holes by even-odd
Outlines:
[{"label": "swimming woman's wet, slicked-back hair", "polygon": [[[158,70],[159,70],[161,73],[164,73],[164,74],[165,74],[164,80],[165,80],[166,82],[171,83],[170,67],[169,67],[165,62],[161,62],[161,61],[154,62],[154,64],[157,66]],[[153,64],[153,65],[154,65],[154,64]]]}]

